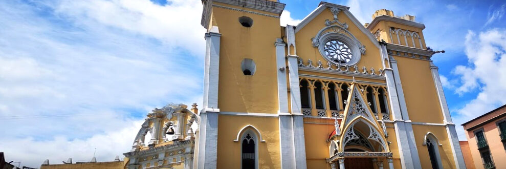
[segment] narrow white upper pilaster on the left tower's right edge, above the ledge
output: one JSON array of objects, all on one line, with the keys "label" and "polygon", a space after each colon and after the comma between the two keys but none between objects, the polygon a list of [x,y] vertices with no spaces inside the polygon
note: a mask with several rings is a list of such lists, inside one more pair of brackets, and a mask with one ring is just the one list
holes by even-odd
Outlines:
[{"label": "narrow white upper pilaster on the left tower's right edge, above the ledge", "polygon": [[288,113],[288,91],[287,91],[287,73],[286,73],[286,58],[284,54],[283,39],[276,39],[276,71],[278,75],[278,113]]}]

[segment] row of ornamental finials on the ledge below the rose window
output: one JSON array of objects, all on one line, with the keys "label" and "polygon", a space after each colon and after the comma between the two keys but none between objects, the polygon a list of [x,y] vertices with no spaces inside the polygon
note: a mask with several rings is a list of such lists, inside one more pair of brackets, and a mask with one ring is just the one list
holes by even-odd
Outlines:
[{"label": "row of ornamental finials on the ledge below the rose window", "polygon": [[321,60],[318,60],[316,66],[313,66],[313,60],[308,59],[307,65],[304,65],[302,58],[299,57],[298,65],[301,68],[310,68],[310,69],[321,69],[321,70],[330,70],[342,73],[356,74],[356,75],[368,75],[368,76],[384,76],[383,69],[379,69],[376,71],[373,67],[367,69],[365,66],[360,69],[357,65],[350,67],[349,65],[341,65],[341,64],[333,64],[332,62],[327,62],[326,67],[323,66]]}]

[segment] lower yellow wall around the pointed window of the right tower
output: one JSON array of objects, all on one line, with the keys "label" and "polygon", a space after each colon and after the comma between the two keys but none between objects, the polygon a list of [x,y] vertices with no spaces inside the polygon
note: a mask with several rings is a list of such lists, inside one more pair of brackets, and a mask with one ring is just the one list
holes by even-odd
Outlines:
[{"label": "lower yellow wall around the pointed window of the right tower", "polygon": [[422,163],[422,168],[432,167],[427,146],[423,145],[425,134],[428,132],[434,134],[437,140],[439,140],[439,143],[443,144],[442,146],[437,146],[439,149],[439,156],[441,157],[443,168],[455,168],[455,160],[453,159],[452,148],[450,141],[448,140],[448,134],[445,126],[414,124],[413,134],[416,142],[416,147],[418,149],[418,155],[420,157],[420,162]]}]

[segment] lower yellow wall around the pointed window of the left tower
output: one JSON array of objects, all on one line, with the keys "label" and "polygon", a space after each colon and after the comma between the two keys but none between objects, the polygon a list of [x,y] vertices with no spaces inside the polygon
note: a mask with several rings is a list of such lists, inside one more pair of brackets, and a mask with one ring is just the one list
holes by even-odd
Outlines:
[{"label": "lower yellow wall around the pointed window of the left tower", "polygon": [[233,140],[240,129],[249,124],[255,126],[266,140],[255,142],[258,145],[258,168],[280,168],[278,120],[277,117],[219,115],[217,168],[240,168],[241,142]]}]

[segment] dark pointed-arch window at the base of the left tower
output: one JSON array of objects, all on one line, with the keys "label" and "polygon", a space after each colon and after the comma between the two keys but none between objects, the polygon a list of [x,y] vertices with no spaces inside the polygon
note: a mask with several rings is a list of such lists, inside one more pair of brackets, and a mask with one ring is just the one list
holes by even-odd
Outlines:
[{"label": "dark pointed-arch window at the base of the left tower", "polygon": [[254,169],[257,164],[256,136],[251,130],[246,131],[241,137],[242,140],[242,166],[243,169]]}]

